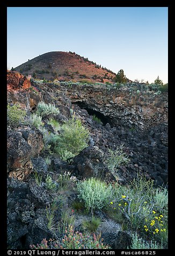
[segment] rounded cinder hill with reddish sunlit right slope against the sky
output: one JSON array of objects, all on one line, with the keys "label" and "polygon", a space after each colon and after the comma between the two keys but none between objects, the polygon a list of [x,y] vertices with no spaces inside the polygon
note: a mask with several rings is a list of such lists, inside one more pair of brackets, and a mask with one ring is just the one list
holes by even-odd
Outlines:
[{"label": "rounded cinder hill with reddish sunlit right slope against the sky", "polygon": [[23,75],[32,75],[51,81],[90,79],[107,82],[112,81],[116,75],[111,70],[72,52],[44,53],[19,65],[14,70]]}]

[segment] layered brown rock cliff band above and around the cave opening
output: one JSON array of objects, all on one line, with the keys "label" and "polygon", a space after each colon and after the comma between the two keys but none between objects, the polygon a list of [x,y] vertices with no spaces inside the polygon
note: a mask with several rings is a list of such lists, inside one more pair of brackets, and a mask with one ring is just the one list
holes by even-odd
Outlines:
[{"label": "layered brown rock cliff band above and around the cave opening", "polygon": [[167,123],[167,94],[155,95],[151,91],[137,94],[132,88],[107,89],[86,85],[68,88],[67,95],[72,103],[110,118],[113,126],[145,130]]}]

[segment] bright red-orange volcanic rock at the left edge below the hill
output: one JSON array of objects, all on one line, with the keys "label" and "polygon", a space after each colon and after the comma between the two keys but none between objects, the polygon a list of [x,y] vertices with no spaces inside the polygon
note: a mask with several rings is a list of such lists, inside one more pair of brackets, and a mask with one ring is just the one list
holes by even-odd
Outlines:
[{"label": "bright red-orange volcanic rock at the left edge below the hill", "polygon": [[31,87],[31,82],[26,76],[18,72],[9,71],[7,73],[7,88],[8,90],[23,90]]}]

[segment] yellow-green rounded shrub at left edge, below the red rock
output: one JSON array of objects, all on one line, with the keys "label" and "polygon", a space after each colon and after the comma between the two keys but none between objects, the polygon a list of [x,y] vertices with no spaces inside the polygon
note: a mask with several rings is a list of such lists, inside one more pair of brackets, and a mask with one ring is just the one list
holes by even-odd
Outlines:
[{"label": "yellow-green rounded shrub at left edge, below the red rock", "polygon": [[16,126],[19,123],[24,123],[26,111],[24,109],[20,109],[19,104],[14,104],[12,106],[8,104],[7,117],[9,125]]}]

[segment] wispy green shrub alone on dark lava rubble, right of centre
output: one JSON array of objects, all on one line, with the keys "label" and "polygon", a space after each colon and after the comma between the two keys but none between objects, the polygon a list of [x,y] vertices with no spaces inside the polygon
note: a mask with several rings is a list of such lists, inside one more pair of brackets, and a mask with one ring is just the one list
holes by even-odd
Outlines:
[{"label": "wispy green shrub alone on dark lava rubble, right of centre", "polygon": [[123,145],[116,147],[116,150],[108,150],[105,163],[107,168],[115,176],[119,166],[127,165],[130,160],[128,154],[123,152]]}]

